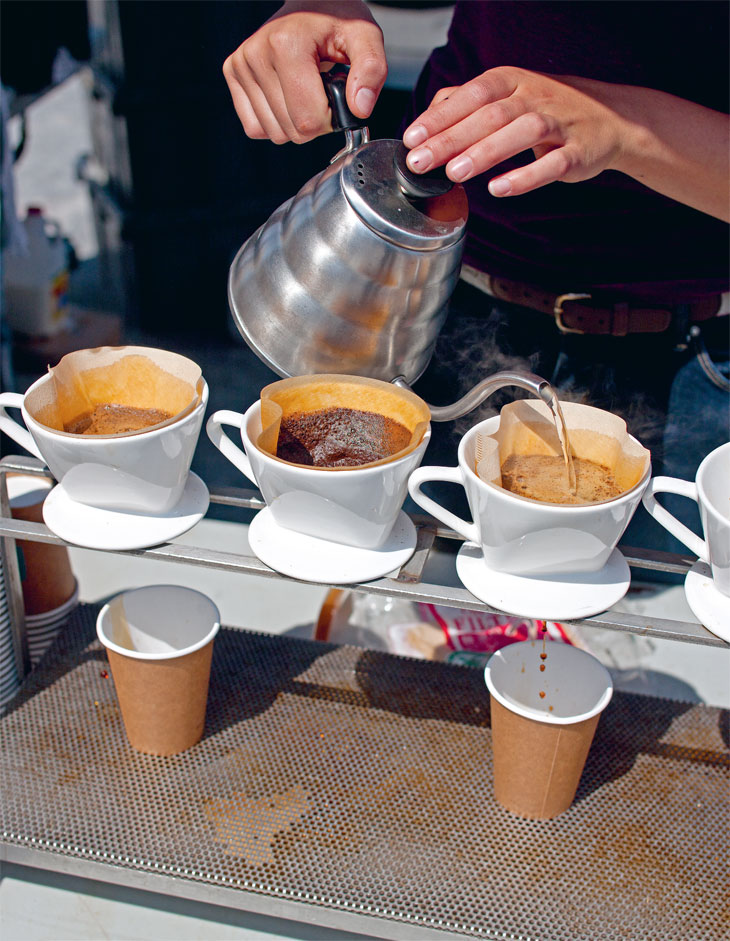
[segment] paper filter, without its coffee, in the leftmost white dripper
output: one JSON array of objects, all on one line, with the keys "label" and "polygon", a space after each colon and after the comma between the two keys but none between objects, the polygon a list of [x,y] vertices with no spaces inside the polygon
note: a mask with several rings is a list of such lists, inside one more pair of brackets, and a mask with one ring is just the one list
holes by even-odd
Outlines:
[{"label": "paper filter, without its coffee, in the leftmost white dripper", "polygon": [[60,432],[96,405],[155,408],[170,413],[172,417],[164,422],[140,429],[149,431],[191,411],[202,393],[202,374],[196,363],[178,353],[149,347],[75,350],[48,372],[51,381],[42,383],[26,398],[26,408],[36,421]]}]

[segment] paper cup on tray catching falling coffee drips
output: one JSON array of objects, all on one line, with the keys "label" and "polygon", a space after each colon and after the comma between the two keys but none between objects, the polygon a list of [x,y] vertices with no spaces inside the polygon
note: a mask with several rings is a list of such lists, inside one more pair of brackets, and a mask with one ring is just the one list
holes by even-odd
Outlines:
[{"label": "paper cup on tray catching falling coffee drips", "polygon": [[[484,678],[490,694],[494,796],[533,820],[563,813],[578,789],[613,683],[595,657],[540,640],[503,647]],[[540,666],[544,665],[544,671]]]}]

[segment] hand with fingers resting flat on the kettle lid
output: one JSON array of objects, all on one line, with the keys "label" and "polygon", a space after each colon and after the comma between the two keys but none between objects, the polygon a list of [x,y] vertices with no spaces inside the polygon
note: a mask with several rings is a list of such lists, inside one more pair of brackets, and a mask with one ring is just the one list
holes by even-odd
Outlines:
[{"label": "hand with fingers resting flat on the kettle lid", "polygon": [[464,182],[532,150],[535,161],[489,181],[493,196],[517,196],[547,183],[576,183],[621,169],[631,122],[614,107],[626,86],[550,76],[510,66],[443,88],[403,135],[409,167],[446,164]]}]

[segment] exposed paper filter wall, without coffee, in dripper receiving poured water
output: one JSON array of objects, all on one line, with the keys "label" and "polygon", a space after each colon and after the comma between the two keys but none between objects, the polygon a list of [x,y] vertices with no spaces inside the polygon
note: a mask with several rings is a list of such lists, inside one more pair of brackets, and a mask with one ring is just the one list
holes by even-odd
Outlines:
[{"label": "exposed paper filter wall, without coffee, in dripper receiving poured water", "polygon": [[[650,452],[632,438],[618,415],[578,402],[561,403],[573,457],[608,468],[622,493],[631,490],[649,467]],[[501,486],[501,466],[513,455],[546,454],[561,457],[562,445],[550,407],[542,401],[521,399],[505,405],[499,428],[479,435],[472,466],[487,483]]]}]

